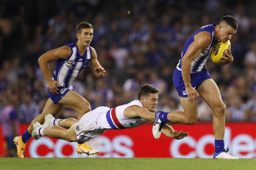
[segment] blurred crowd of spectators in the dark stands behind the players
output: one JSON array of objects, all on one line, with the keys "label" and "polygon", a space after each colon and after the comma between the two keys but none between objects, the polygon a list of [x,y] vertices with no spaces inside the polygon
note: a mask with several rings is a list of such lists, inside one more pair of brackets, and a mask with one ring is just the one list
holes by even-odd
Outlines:
[{"label": "blurred crowd of spectators in the dark stands behind the players", "polygon": [[[158,110],[182,110],[172,74],[183,45],[224,15],[238,21],[234,62],[218,66],[209,59],[206,68],[220,89],[226,121],[256,121],[255,7],[255,0],[0,0],[0,121],[7,107],[20,123],[40,114],[48,94],[37,59],[76,42],[76,25],[83,21],[93,25],[91,46],[107,71],[96,78],[87,66],[75,82],[74,91],[92,109],[136,100],[139,87],[149,83],[159,89]],[[51,62],[51,73],[54,68]],[[212,121],[211,109],[197,102],[199,116]],[[77,115],[64,109],[58,117]]]}]

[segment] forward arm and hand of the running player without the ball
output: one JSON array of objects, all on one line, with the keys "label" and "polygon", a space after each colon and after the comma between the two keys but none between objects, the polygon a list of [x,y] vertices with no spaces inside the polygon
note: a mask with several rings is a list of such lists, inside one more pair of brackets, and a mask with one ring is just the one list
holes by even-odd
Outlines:
[{"label": "forward arm and hand of the running player without the ball", "polygon": [[92,66],[92,72],[95,76],[97,77],[102,77],[104,76],[104,74],[106,73],[105,69],[100,66],[100,62],[98,61],[97,59],[97,54],[96,54],[96,51],[95,49],[92,49],[92,58],[91,58],[91,66]]}]

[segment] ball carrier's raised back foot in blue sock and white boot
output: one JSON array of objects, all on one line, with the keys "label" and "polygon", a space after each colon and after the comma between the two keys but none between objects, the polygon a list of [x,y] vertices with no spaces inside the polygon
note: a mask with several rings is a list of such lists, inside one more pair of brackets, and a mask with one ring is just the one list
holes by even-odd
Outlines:
[{"label": "ball carrier's raised back foot in blue sock and white boot", "polygon": [[168,112],[157,111],[155,114],[155,122],[152,128],[153,136],[155,139],[159,139],[161,135],[161,130],[166,122]]}]

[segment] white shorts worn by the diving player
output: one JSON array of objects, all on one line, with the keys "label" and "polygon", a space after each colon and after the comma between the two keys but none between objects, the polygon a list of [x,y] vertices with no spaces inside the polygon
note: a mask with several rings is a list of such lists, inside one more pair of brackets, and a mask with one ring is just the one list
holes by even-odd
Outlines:
[{"label": "white shorts worn by the diving player", "polygon": [[107,107],[99,107],[83,115],[80,121],[75,124],[77,139],[83,142],[88,142],[96,136],[102,135],[106,129],[100,128],[97,119],[102,111],[109,109],[110,108]]}]

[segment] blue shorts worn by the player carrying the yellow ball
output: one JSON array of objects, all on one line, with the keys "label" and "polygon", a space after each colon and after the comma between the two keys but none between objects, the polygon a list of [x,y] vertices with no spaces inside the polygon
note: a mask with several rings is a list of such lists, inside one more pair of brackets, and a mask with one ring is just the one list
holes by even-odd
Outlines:
[{"label": "blue shorts worn by the player carrying the yellow ball", "polygon": [[[212,79],[207,69],[203,69],[202,71],[196,73],[190,73],[191,85],[195,89],[206,79]],[[186,92],[185,84],[181,75],[181,71],[177,68],[173,73],[173,83],[175,89],[178,91],[180,97],[188,97]]]}]

